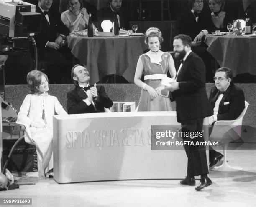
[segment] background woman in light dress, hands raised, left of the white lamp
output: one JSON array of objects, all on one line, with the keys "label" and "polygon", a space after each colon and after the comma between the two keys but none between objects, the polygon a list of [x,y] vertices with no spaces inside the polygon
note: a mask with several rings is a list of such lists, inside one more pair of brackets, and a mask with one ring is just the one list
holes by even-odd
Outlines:
[{"label": "background woman in light dress, hands raised, left of the white lamp", "polygon": [[72,32],[74,28],[78,27],[78,31],[87,28],[89,14],[86,8],[83,8],[82,0],[67,0],[67,11],[61,13],[61,21],[69,31]]}]

